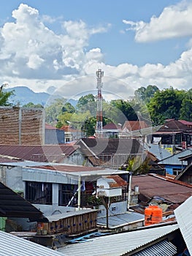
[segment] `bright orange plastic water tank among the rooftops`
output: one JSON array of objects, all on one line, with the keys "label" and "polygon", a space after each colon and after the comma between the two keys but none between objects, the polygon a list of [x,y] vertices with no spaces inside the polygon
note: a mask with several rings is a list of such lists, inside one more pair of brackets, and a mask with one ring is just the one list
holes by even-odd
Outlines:
[{"label": "bright orange plastic water tank among the rooftops", "polygon": [[145,226],[161,222],[163,211],[158,206],[149,206],[145,208]]}]

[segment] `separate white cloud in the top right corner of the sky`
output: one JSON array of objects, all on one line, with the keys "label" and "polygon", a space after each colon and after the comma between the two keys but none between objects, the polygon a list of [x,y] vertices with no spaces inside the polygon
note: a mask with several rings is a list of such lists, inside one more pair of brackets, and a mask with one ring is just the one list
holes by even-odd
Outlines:
[{"label": "separate white cloud in the top right corner of the sky", "polygon": [[153,16],[150,23],[144,21],[133,22],[123,20],[129,28],[136,32],[135,39],[137,42],[152,42],[161,39],[174,37],[192,36],[192,4],[184,1],[176,6],[164,8],[161,15]]}]

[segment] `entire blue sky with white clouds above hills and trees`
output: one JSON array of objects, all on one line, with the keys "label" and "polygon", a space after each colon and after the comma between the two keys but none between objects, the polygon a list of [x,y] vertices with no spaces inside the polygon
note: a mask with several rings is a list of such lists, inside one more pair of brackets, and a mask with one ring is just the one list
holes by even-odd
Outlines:
[{"label": "entire blue sky with white clouds above hills and trees", "polygon": [[[66,97],[96,86],[191,89],[192,1],[1,1],[0,83]],[[52,90],[50,90],[52,89]]]}]

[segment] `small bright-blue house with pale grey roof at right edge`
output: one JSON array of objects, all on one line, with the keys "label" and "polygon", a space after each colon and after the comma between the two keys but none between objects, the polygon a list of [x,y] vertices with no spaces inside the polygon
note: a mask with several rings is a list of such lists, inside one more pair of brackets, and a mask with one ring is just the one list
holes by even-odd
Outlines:
[{"label": "small bright-blue house with pale grey roof at right edge", "polygon": [[192,148],[187,148],[177,154],[173,154],[159,161],[158,165],[164,167],[166,169],[166,173],[177,176],[188,165],[187,161],[181,161],[180,157],[188,156],[189,154],[191,154],[191,152]]}]

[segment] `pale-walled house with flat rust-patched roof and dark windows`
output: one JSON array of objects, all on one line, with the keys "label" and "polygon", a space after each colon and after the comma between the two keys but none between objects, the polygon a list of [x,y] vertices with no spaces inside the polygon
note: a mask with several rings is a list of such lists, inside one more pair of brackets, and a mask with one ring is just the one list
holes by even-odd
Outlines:
[{"label": "pale-walled house with flat rust-patched roof and dark windows", "polygon": [[[94,192],[93,186],[96,187],[99,177],[127,174],[124,170],[102,167],[50,163],[46,165],[28,161],[1,163],[0,173],[1,181],[11,189],[23,192],[26,200],[47,215],[55,211],[63,213],[69,209],[74,211],[74,207],[87,206],[84,199],[88,197],[87,194]],[[82,195],[85,195],[84,198]]]}]

